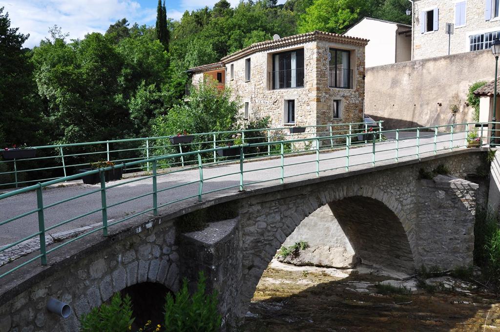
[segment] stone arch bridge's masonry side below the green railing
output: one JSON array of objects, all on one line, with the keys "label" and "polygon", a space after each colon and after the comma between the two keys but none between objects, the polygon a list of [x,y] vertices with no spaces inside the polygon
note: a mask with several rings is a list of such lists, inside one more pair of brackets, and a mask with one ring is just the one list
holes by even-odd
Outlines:
[{"label": "stone arch bridge's masonry side below the green railing", "polygon": [[[297,179],[127,221],[107,238],[92,234],[83,244],[75,241],[64,252],[54,252],[51,265],[28,265],[4,277],[0,332],[74,332],[78,317],[113,292],[143,282],[175,291],[182,277],[194,279],[198,270],[207,273],[209,288],[219,291],[223,326],[230,330],[246,312],[281,243],[302,219],[326,204],[364,261],[404,271],[420,265],[471,265],[476,201],[482,203],[487,187],[465,178],[486,166],[485,154],[485,149],[461,149]],[[449,175],[419,175],[420,169],[439,164]],[[175,229],[176,218],[209,206],[215,212],[231,209],[235,217],[199,232]],[[69,303],[71,316],[62,319],[46,311],[49,296]]]}]

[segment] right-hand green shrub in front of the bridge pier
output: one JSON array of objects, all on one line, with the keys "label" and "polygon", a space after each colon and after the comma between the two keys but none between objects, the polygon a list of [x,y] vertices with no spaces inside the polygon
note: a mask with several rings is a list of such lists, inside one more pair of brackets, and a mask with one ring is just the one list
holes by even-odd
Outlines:
[{"label": "right-hand green shrub in front of the bridge pier", "polygon": [[217,310],[217,292],[205,294],[206,278],[199,272],[196,291],[189,296],[187,279],[175,296],[165,298],[165,332],[215,332],[222,318]]}]

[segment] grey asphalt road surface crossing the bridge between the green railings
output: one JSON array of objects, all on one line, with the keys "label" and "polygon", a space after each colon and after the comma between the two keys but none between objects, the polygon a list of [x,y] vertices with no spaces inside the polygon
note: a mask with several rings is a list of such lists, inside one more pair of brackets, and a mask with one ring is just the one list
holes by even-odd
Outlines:
[{"label": "grey asphalt road surface crossing the bridge between the green railings", "polygon": [[[414,133],[413,133],[414,134]],[[405,133],[404,140],[399,141],[399,151],[398,155],[400,160],[407,158],[416,158],[416,147],[410,147],[415,145],[416,138],[412,138],[413,134]],[[392,135],[393,136],[393,135]],[[402,137],[402,135],[400,136]],[[396,142],[391,140],[391,135],[388,135],[389,140],[375,145],[375,162],[394,162],[395,157],[395,146]],[[449,134],[439,134],[437,137],[437,149],[448,151],[450,147],[450,135]],[[420,147],[419,153],[425,154],[433,151],[434,148],[434,137],[433,133],[420,133]],[[455,133],[453,135],[453,146],[459,146],[464,144],[464,133]],[[336,151],[324,151],[320,153],[320,163],[319,170],[327,173],[331,172],[343,172],[345,171],[346,165],[346,152],[345,149]],[[355,166],[352,169],[358,169],[360,167],[371,167],[372,166],[372,146],[371,144],[367,146],[359,146],[350,149],[349,165]],[[316,171],[316,156],[315,154],[307,154],[300,156],[289,156],[285,158],[285,177],[292,176],[285,179],[285,182],[293,181],[297,177],[294,175],[304,174],[306,172],[311,172],[306,176],[314,177]],[[280,176],[280,168],[271,168],[265,170],[259,170],[260,168],[279,166],[280,159],[266,159],[253,162],[244,163],[244,183],[251,183],[255,181],[263,181],[269,179],[275,179]],[[208,167],[203,169],[203,177],[205,179],[203,184],[203,192],[210,190],[221,189],[229,186],[239,185],[239,164],[230,163],[225,165],[219,165],[215,167]],[[222,174],[230,174],[222,177],[217,177],[209,179],[210,177],[219,176]],[[321,175],[321,173],[320,173]],[[303,178],[303,176],[301,177]],[[198,169],[184,170],[171,174],[159,175],[157,178],[157,188],[158,190],[162,188],[167,188],[170,186],[178,185],[181,183],[188,183],[190,181],[195,181],[199,179]],[[108,182],[108,185],[124,182],[129,179],[123,179],[119,181]],[[249,184],[248,187],[258,187],[258,186],[268,186],[273,183],[279,183],[278,180],[268,181],[263,183]],[[43,190],[43,204],[48,205],[53,202],[63,200],[65,198],[81,195],[85,192],[95,190],[99,187],[99,184],[87,185],[79,184],[65,187],[51,187]],[[107,204],[113,204],[119,201],[123,201],[140,194],[145,194],[152,190],[152,180],[142,179],[133,183],[127,183],[106,190],[106,200]],[[228,193],[237,191],[238,188],[224,189],[220,193]],[[192,183],[186,186],[165,190],[158,193],[158,204],[166,203],[176,199],[180,199],[186,196],[197,195],[198,193],[198,183]],[[193,198],[196,199],[196,198]],[[65,203],[50,207],[45,209],[45,226],[49,227],[63,220],[68,220],[72,217],[84,214],[94,209],[100,208],[101,197],[100,193],[92,193],[74,200],[70,200]],[[132,200],[127,203],[119,204],[108,208],[107,215],[108,219],[119,220],[120,218],[143,211],[152,206],[151,195],[144,196]],[[10,217],[22,214],[29,210],[36,208],[36,194],[35,192],[26,192],[23,194],[16,195],[14,197],[9,197],[0,200],[0,221],[6,220]],[[160,209],[161,211],[161,209]],[[101,221],[101,212],[95,212],[89,214],[85,217],[78,218],[74,221],[66,223],[65,225],[56,227],[47,233],[52,234],[63,230],[74,229],[84,225],[89,225],[92,223]],[[29,216],[22,217],[15,221],[9,222],[5,225],[0,226],[0,246],[8,243],[12,243],[22,237],[38,231],[38,220],[37,214],[33,213]]]}]

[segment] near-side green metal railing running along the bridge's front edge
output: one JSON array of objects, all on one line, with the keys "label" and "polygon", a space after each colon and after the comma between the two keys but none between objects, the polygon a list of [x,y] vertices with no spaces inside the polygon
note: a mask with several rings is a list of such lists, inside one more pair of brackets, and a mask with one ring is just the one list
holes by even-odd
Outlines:
[{"label": "near-side green metal railing running along the bridge's front edge", "polygon": [[[34,220],[37,219],[38,231],[19,238],[10,244],[4,245],[0,248],[0,253],[23,241],[36,237],[39,238],[40,246],[39,254],[36,254],[34,257],[6,270],[0,275],[0,278],[29,263],[36,261],[37,259],[40,259],[41,264],[45,265],[47,263],[47,256],[51,252],[58,250],[71,242],[78,241],[83,237],[97,231],[102,231],[103,236],[107,236],[109,227],[146,213],[157,215],[160,208],[174,204],[176,202],[189,199],[201,201],[203,197],[213,192],[236,188],[237,190],[243,190],[245,187],[255,185],[257,183],[272,181],[284,183],[286,179],[297,176],[305,176],[310,174],[319,176],[320,173],[324,171],[343,169],[349,170],[353,166],[362,165],[369,167],[374,166],[377,162],[397,162],[400,161],[403,157],[406,159],[420,158],[422,154],[437,154],[439,151],[449,151],[455,148],[463,148],[468,143],[466,137],[470,135],[471,131],[476,132],[477,136],[480,138],[478,144],[479,146],[488,146],[486,142],[489,142],[491,139],[494,140],[496,134],[495,131],[486,128],[485,126],[487,125],[491,125],[491,123],[461,123],[432,127],[367,132],[363,135],[363,137],[361,137],[362,139],[360,139],[360,144],[358,146],[353,146],[351,142],[351,140],[355,136],[357,136],[357,133],[347,133],[341,135],[324,135],[307,138],[296,138],[290,140],[244,143],[240,145],[219,148],[208,148],[204,150],[174,153],[164,156],[156,156],[130,161],[123,164],[117,164],[115,166],[90,170],[85,173],[52,179],[49,181],[3,193],[0,194],[0,227],[15,227],[16,225],[13,222],[15,222],[16,220],[27,218],[31,215],[36,215],[36,218],[33,218],[32,221],[35,222]],[[385,139],[382,143],[384,137],[388,138]],[[321,146],[329,146],[330,140],[332,139],[334,139],[335,141],[343,141],[344,148],[336,149],[333,151],[323,151],[323,153],[320,153]],[[300,155],[298,157],[285,157],[287,146],[290,146],[290,144],[306,144],[310,140],[314,141],[314,148],[312,150],[302,151],[301,153],[299,153]],[[278,153],[276,153],[273,157],[269,157],[268,155],[254,155],[248,157],[247,155],[245,155],[245,150],[248,150],[251,147],[268,146],[275,147],[275,150],[278,151]],[[212,152],[217,152],[218,150],[228,149],[238,149],[239,155],[236,156],[235,159],[220,158],[215,161],[202,158],[202,156],[206,153],[211,154]],[[193,156],[195,162],[184,168],[166,169],[166,171],[163,172],[158,171],[159,162],[163,162],[165,160],[168,161],[168,159],[175,160],[182,156]],[[305,158],[304,156],[307,158]],[[236,161],[238,165],[234,165],[234,161]],[[250,161],[260,161],[261,163],[254,163]],[[135,167],[138,165],[144,165],[146,163],[150,165],[151,173],[135,178],[119,180],[113,184],[105,182],[106,171],[111,171],[113,170],[113,168]],[[312,164],[312,166],[309,166],[310,164]],[[211,169],[213,169],[213,167],[217,165],[225,165],[225,167],[216,168],[216,172],[211,171]],[[245,165],[247,165],[246,169],[244,167]],[[193,171],[194,173],[189,171]],[[195,175],[196,172],[198,173],[197,177]],[[254,174],[255,172],[260,173],[253,176],[252,178],[251,174]],[[95,187],[87,187],[90,188],[89,191],[75,196],[65,197],[62,200],[51,203],[44,202],[44,197],[46,197],[46,190],[43,189],[47,186],[62,183],[64,181],[80,179],[82,176],[97,173],[99,174],[100,185],[96,185]],[[183,173],[185,176],[181,180],[177,179],[173,181],[162,181],[162,179],[168,178],[169,175],[174,176],[176,173]],[[212,173],[211,176],[210,173]],[[237,177],[238,180],[235,180],[234,183],[226,186],[224,186],[223,183],[218,183],[218,181],[222,181],[220,180],[221,178],[228,176]],[[120,193],[132,192],[131,190],[133,190],[133,187],[132,189],[130,189],[130,187],[126,187],[125,184],[137,183],[138,181],[142,181],[142,184],[144,184],[146,180],[147,188],[150,188],[146,192],[136,194],[132,197],[112,203],[107,201],[106,198],[109,197],[108,192],[110,189],[122,189]],[[218,183],[220,185],[216,187],[213,187],[212,185],[209,190],[206,190],[204,184],[208,183],[210,180],[212,180],[212,182],[215,181],[216,184]],[[166,187],[160,186],[160,184],[165,183],[167,184]],[[188,186],[193,186],[193,188],[189,188]],[[27,208],[27,211],[13,216],[5,215],[7,213],[7,206],[12,203],[12,201],[8,201],[8,198],[15,197],[17,199],[19,195],[31,191],[35,191],[36,193],[36,208]],[[47,224],[45,212],[48,209],[57,207],[62,209],[63,207],[61,206],[61,204],[63,203],[75,204],[73,206],[91,206],[88,200],[83,200],[90,199],[88,196],[92,194],[99,194],[100,196],[100,202],[98,202],[97,197],[92,196],[92,199],[95,199],[98,202],[97,208],[91,208],[85,213],[66,218],[51,225]],[[141,207],[139,206],[141,202],[138,201],[138,199],[144,197],[150,197],[150,201],[146,202],[146,205]],[[120,196],[120,198],[122,197]],[[19,197],[19,199],[22,199],[23,206],[29,206],[30,197],[23,196]],[[164,199],[166,199],[166,201],[162,202]],[[122,204],[125,203],[127,204],[126,206],[129,207],[129,210],[131,212],[126,214],[126,216],[119,218],[118,220],[110,220],[108,218],[109,209],[119,205],[122,206]],[[67,207],[66,209],[71,210]],[[95,217],[95,214],[99,213],[99,219],[101,222],[100,226],[93,228],[74,238],[66,240],[62,243],[54,243],[50,248],[46,245],[45,234],[48,231],[51,231],[56,227],[60,227],[70,222],[74,222],[76,220],[82,222],[85,217],[90,215],[93,215],[93,217]],[[53,220],[49,220],[48,223],[51,222],[53,222]],[[13,263],[11,262],[9,264]]]}]

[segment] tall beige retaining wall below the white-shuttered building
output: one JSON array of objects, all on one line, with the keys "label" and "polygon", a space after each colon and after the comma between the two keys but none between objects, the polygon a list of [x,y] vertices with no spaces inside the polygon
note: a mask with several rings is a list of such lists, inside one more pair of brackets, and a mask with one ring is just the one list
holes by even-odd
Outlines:
[{"label": "tall beige retaining wall below the white-shuttered building", "polygon": [[[469,86],[491,80],[491,51],[474,51],[366,69],[364,112],[386,129],[472,121]],[[451,105],[458,106],[453,114]]]}]

